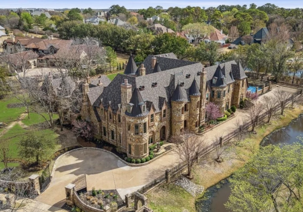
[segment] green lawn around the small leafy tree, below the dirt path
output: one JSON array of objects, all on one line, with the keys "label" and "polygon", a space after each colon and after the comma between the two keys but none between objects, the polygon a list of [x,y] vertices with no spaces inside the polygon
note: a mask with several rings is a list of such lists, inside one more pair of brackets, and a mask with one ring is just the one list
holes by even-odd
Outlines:
[{"label": "green lawn around the small leafy tree, below the dirt path", "polygon": [[[25,135],[25,133],[28,132],[28,130],[23,129],[19,124],[16,124],[13,126],[10,130],[8,130],[4,135],[0,137],[0,139],[7,139],[10,143],[10,149],[11,149],[11,158],[18,158],[18,143],[22,136]],[[46,136],[51,136],[53,139],[56,139],[58,137],[58,134],[56,134],[52,130],[41,130],[41,131],[35,131],[35,133],[44,134]],[[54,149],[55,151],[60,149],[60,145],[57,145]],[[14,166],[18,166],[18,163],[12,163]],[[0,162],[0,170],[3,168],[4,164]]]}]

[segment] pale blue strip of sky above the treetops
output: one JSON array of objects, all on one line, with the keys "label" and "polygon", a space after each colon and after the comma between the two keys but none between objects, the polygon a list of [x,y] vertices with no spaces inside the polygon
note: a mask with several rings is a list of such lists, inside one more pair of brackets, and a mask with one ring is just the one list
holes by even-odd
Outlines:
[{"label": "pale blue strip of sky above the treetops", "polygon": [[284,8],[302,8],[302,0],[208,0],[208,1],[199,1],[199,0],[118,0],[118,1],[105,1],[105,0],[0,0],[0,8],[48,8],[48,9],[57,9],[57,8],[88,8],[93,9],[106,9],[111,5],[120,5],[125,6],[127,9],[140,9],[148,8],[149,6],[155,7],[157,5],[162,6],[163,8],[169,7],[186,7],[190,6],[199,6],[199,7],[217,7],[218,5],[248,5],[255,3],[257,6],[264,5],[265,3],[275,4],[278,7]]}]

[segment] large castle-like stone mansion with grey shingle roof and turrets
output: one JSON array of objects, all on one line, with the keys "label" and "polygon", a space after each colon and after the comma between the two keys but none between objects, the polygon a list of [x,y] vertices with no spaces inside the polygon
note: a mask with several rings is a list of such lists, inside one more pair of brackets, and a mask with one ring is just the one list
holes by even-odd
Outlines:
[{"label": "large castle-like stone mansion with grey shingle roof and turrets", "polygon": [[[204,67],[173,53],[149,55],[137,68],[132,56],[124,74],[112,82],[103,76],[82,84],[81,117],[96,137],[133,159],[148,156],[148,146],[205,122],[205,105],[217,104],[223,116],[245,98],[247,76],[235,61]],[[95,80],[98,80],[96,82]]]}]

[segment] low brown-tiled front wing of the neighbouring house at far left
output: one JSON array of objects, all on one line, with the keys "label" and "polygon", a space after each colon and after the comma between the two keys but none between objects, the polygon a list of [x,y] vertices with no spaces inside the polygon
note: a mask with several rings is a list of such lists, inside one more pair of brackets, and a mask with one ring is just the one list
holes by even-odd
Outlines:
[{"label": "low brown-tiled front wing of the neighbouring house at far left", "polygon": [[34,51],[18,52],[0,57],[1,66],[11,73],[21,73],[27,69],[37,67],[38,54]]}]

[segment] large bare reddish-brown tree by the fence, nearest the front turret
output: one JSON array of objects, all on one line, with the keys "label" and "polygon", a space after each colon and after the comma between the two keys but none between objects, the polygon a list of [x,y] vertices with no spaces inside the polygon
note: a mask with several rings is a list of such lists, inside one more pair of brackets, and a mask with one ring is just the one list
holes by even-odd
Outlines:
[{"label": "large bare reddish-brown tree by the fence, nearest the front turret", "polygon": [[195,133],[185,131],[182,138],[171,138],[173,143],[180,143],[180,139],[183,143],[179,144],[174,152],[178,155],[178,158],[186,164],[187,175],[191,176],[192,167],[197,163],[198,158],[205,154],[205,140],[201,136],[196,136]]}]

